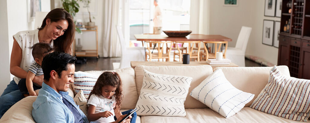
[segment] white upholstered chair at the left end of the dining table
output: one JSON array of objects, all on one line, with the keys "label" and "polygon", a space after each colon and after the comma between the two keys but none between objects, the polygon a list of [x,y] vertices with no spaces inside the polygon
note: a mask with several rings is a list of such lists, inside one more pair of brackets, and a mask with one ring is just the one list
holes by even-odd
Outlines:
[{"label": "white upholstered chair at the left end of the dining table", "polygon": [[125,39],[121,27],[116,26],[116,30],[121,44],[122,58],[120,63],[117,62],[113,63],[113,69],[131,67],[130,66],[131,61],[144,61],[145,60],[144,47],[126,48]]}]

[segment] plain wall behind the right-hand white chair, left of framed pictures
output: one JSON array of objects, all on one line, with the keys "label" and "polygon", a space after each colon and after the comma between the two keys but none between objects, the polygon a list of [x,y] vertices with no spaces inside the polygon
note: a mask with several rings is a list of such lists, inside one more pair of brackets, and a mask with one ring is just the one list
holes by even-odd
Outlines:
[{"label": "plain wall behind the right-hand white chair, left of framed pictures", "polygon": [[252,27],[246,54],[261,57],[277,64],[278,48],[262,44],[264,0],[238,0],[238,6],[223,6],[223,0],[210,0],[210,34],[220,34],[232,39],[228,47],[235,47],[241,26]]}]

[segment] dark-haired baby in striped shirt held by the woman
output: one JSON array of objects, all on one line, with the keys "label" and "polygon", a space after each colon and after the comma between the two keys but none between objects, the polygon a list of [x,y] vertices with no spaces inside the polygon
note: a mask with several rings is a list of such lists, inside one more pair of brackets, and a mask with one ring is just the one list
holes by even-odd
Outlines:
[{"label": "dark-haired baby in striped shirt held by the woman", "polygon": [[43,57],[53,52],[53,48],[48,43],[36,43],[32,47],[32,56],[35,60],[33,64],[28,69],[28,74],[26,79],[21,79],[18,82],[18,88],[20,89],[20,92],[25,96],[37,96],[39,89],[42,88],[42,86],[35,84],[32,82],[34,76],[40,76],[43,75],[42,71],[42,61]]}]

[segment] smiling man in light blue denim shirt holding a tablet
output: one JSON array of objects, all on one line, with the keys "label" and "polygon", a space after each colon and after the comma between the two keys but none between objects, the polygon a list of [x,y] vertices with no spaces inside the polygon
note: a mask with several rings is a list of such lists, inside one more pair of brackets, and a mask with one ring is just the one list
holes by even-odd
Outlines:
[{"label": "smiling man in light blue denim shirt holding a tablet", "polygon": [[[44,82],[32,105],[34,121],[88,123],[85,114],[67,92],[69,84],[73,83],[75,62],[75,57],[61,52],[52,52],[43,58]],[[120,121],[124,116],[120,116],[117,120]],[[123,122],[129,123],[129,121],[130,119],[126,119]]]}]

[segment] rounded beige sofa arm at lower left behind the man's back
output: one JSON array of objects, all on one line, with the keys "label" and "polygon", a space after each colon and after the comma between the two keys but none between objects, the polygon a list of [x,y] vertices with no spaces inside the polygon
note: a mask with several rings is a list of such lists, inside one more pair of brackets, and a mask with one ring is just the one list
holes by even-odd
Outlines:
[{"label": "rounded beige sofa arm at lower left behind the man's back", "polygon": [[15,103],[0,119],[1,123],[35,123],[32,118],[32,103],[37,96],[28,96]]}]

